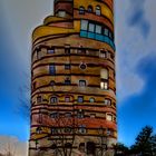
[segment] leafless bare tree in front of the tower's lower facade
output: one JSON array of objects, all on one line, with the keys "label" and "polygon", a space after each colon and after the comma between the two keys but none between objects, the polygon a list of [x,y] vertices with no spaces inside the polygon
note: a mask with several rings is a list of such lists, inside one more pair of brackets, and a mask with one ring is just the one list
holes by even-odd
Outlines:
[{"label": "leafless bare tree in front of the tower's lower facade", "polygon": [[[78,127],[78,120],[75,115],[75,106],[69,111],[60,111],[59,106],[56,106],[56,114],[42,115],[39,113],[37,121],[39,124],[46,124],[50,127],[50,134],[47,135],[47,138],[51,142],[49,147],[39,147],[38,150],[43,152],[47,149],[52,149],[53,156],[71,156],[76,130]],[[52,115],[52,116],[51,116]],[[41,130],[38,127],[38,130]],[[41,133],[41,131],[39,131]]]}]

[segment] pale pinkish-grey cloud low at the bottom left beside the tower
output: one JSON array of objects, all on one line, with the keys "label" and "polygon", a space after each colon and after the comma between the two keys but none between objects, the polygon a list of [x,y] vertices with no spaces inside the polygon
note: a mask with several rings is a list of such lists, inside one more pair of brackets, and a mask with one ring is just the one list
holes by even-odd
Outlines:
[{"label": "pale pinkish-grey cloud low at the bottom left beside the tower", "polygon": [[0,153],[10,152],[13,156],[27,156],[28,143],[19,142],[14,137],[0,136]]}]

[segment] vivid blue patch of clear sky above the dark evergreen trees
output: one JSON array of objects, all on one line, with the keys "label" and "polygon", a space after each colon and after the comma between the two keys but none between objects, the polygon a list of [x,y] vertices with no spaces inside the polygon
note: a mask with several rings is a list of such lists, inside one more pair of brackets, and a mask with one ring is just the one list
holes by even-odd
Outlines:
[{"label": "vivid blue patch of clear sky above the dark evergreen trees", "polygon": [[[156,55],[148,55],[139,60],[136,72],[145,84],[140,92],[129,96],[118,107],[119,136],[126,136],[127,144],[145,125],[156,127]],[[121,125],[121,126],[120,126]],[[127,136],[125,131],[130,131]]]}]

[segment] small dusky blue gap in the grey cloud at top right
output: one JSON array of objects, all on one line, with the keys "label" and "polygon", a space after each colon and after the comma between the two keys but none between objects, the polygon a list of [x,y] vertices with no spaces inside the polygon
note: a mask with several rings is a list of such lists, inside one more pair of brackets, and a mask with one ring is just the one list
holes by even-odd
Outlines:
[{"label": "small dusky blue gap in the grey cloud at top right", "polygon": [[146,18],[145,2],[146,0],[130,0],[128,25],[137,27],[146,38],[150,32],[150,23]]}]

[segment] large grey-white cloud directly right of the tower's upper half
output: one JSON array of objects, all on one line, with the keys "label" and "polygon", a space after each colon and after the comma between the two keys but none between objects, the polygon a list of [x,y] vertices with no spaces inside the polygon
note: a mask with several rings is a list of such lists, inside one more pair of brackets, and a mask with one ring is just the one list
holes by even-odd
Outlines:
[{"label": "large grey-white cloud directly right of the tower's upper half", "polygon": [[153,0],[147,0],[145,3],[145,16],[152,28],[148,38],[144,38],[137,27],[129,27],[127,23],[130,0],[116,1],[117,94],[119,101],[140,91],[144,86],[143,79],[137,75],[136,66],[142,58],[153,55],[154,51],[156,40],[155,4],[156,1]]}]

